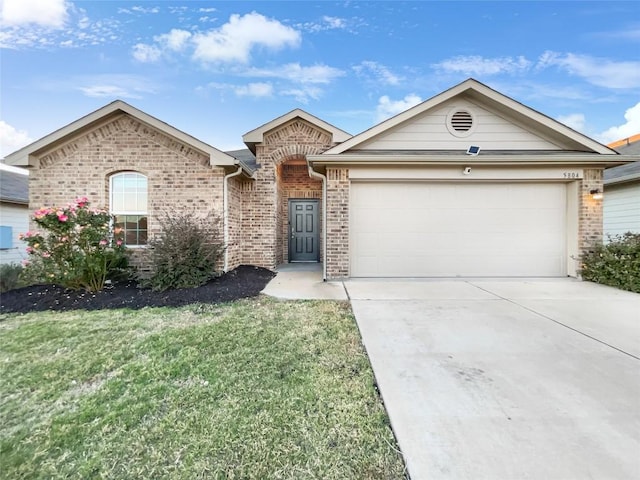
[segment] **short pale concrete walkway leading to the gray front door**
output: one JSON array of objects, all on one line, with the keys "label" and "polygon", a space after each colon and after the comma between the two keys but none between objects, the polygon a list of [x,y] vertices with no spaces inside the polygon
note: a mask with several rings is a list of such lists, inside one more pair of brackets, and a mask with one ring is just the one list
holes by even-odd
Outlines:
[{"label": "short pale concrete walkway leading to the gray front door", "polygon": [[278,274],[262,291],[288,300],[347,300],[342,282],[323,282],[322,264],[289,263],[278,266]]}]

